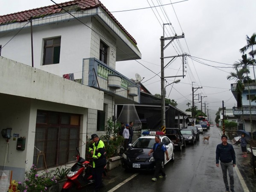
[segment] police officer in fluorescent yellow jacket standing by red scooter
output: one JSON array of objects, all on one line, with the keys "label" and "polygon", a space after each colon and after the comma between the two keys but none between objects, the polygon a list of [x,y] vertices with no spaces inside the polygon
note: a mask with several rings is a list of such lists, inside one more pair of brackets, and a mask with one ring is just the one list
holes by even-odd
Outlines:
[{"label": "police officer in fluorescent yellow jacket standing by red scooter", "polygon": [[92,134],[93,148],[89,148],[90,153],[93,155],[93,178],[95,180],[94,191],[98,192],[99,188],[103,186],[102,173],[106,165],[105,145],[97,134]]}]

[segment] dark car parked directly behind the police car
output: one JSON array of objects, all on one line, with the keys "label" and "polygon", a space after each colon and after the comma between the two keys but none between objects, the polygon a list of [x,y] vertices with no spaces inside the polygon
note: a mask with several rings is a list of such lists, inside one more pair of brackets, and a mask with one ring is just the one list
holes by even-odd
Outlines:
[{"label": "dark car parked directly behind the police car", "polygon": [[166,128],[166,136],[174,143],[175,150],[181,151],[182,147],[186,147],[185,138],[179,128]]}]

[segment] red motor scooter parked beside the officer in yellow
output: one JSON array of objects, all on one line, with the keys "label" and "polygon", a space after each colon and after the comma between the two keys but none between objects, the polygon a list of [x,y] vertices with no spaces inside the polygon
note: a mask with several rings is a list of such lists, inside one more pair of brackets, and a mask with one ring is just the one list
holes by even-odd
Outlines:
[{"label": "red motor scooter parked beside the officer in yellow", "polygon": [[[67,181],[63,184],[61,192],[70,192],[74,187],[82,189],[85,186],[94,183],[92,175],[92,165],[89,161],[80,157],[79,148],[76,148],[76,163],[67,174]],[[107,165],[104,167],[103,174],[106,175]]]}]

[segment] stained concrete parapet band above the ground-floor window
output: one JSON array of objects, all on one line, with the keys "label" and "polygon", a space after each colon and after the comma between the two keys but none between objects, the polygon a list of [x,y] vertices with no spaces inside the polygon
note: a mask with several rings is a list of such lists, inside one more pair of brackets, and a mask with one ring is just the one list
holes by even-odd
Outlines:
[{"label": "stained concrete parapet band above the ground-floor window", "polygon": [[0,57],[0,93],[103,109],[103,92]]}]

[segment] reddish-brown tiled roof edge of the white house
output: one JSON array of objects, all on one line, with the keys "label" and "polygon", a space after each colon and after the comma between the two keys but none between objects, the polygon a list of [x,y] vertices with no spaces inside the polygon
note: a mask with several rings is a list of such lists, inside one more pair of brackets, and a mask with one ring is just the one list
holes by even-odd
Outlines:
[{"label": "reddish-brown tiled roof edge of the white house", "polygon": [[[77,6],[82,10],[101,7],[116,22],[116,24],[125,32],[125,34],[128,35],[128,37],[131,38],[131,40],[135,44],[137,44],[135,39],[125,30],[125,28],[116,20],[116,18],[111,14],[111,12],[109,12],[108,9],[99,0],[73,0],[65,3],[59,3],[59,5],[63,8],[66,8],[68,6]],[[30,9],[27,11],[12,13],[8,15],[2,15],[0,16],[0,25],[6,24],[6,23],[23,22],[34,17],[41,17],[44,15],[46,16],[46,15],[56,14],[63,10],[61,7],[57,5],[52,5],[52,6],[45,6],[45,7],[40,7],[36,9]]]}]

